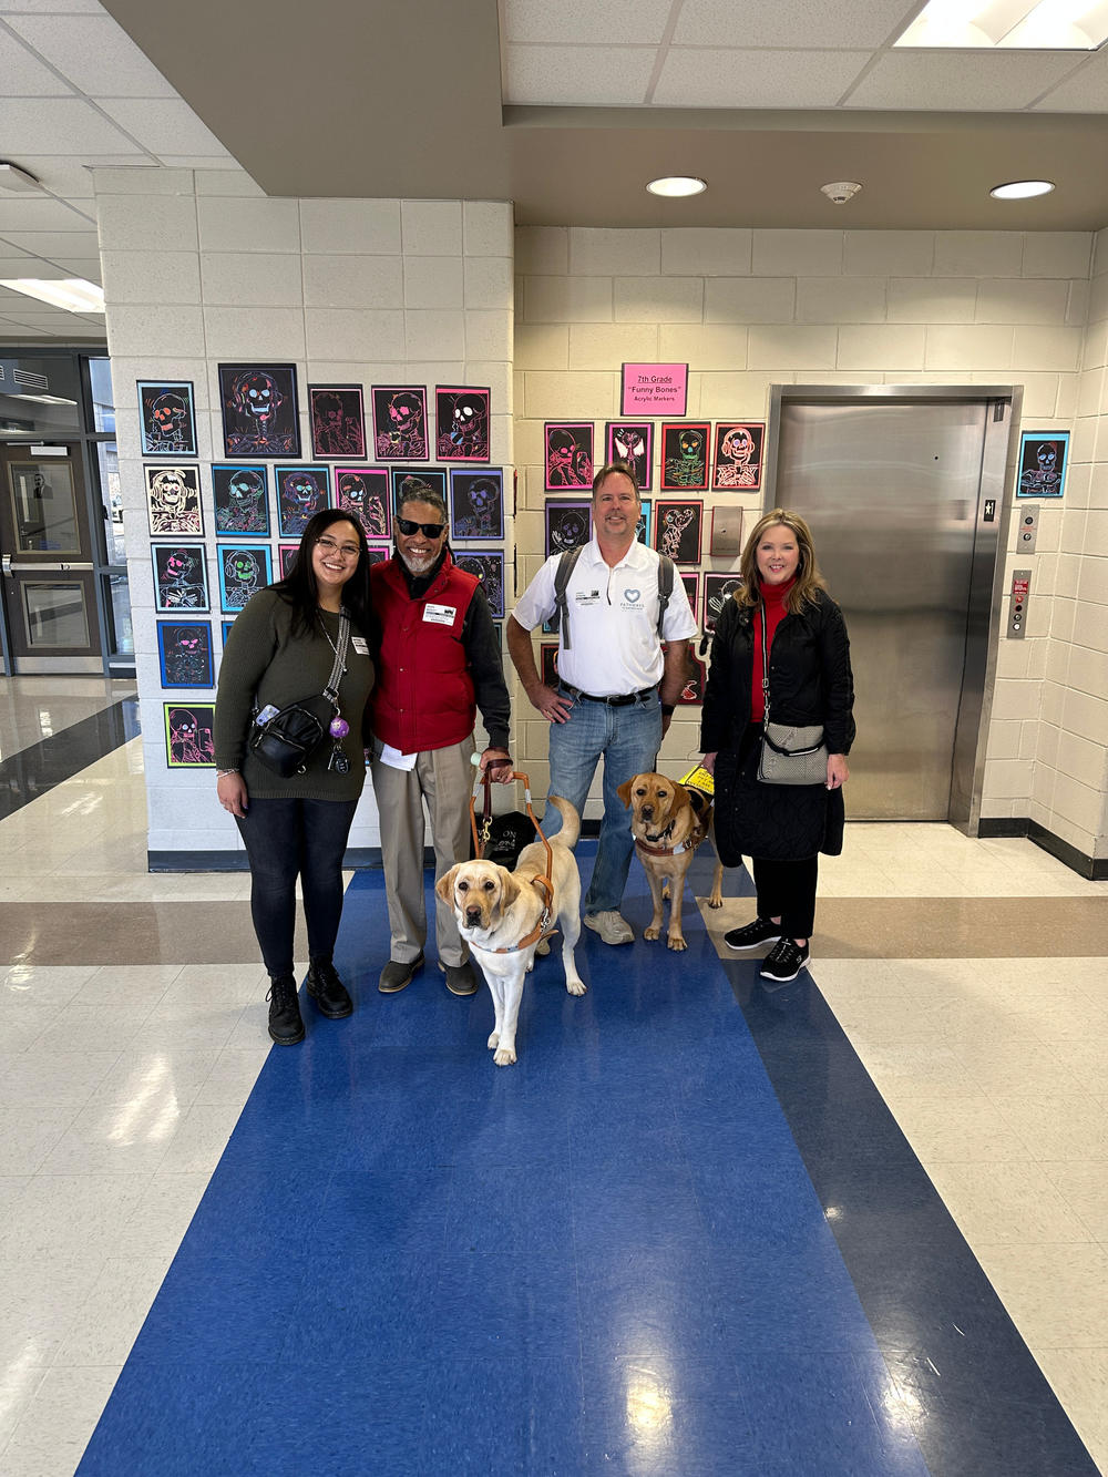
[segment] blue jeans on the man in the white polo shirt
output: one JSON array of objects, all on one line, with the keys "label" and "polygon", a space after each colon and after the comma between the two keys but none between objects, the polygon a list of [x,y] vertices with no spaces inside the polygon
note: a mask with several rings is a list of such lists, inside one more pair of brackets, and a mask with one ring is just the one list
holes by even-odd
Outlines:
[{"label": "blue jeans on the man in the white polo shirt", "polygon": [[[561,697],[570,694],[558,690]],[[592,882],[582,902],[582,913],[619,910],[631,868],[634,839],[631,811],[616,795],[616,786],[654,768],[662,747],[662,705],[656,693],[625,707],[573,699],[564,724],[550,725],[550,793],[560,795],[585,809],[585,796],[604,759],[604,818],[600,823],[600,845]],[[561,817],[553,808],[547,812],[548,835],[561,829]]]}]

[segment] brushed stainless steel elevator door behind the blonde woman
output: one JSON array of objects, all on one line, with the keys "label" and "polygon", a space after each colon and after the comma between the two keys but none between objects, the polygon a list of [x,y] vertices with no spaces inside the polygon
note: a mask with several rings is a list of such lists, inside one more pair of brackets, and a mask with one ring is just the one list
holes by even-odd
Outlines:
[{"label": "brushed stainless steel elevator door behind the blonde woman", "polygon": [[987,414],[782,405],[777,504],[810,521],[849,629],[852,820],[950,814]]}]

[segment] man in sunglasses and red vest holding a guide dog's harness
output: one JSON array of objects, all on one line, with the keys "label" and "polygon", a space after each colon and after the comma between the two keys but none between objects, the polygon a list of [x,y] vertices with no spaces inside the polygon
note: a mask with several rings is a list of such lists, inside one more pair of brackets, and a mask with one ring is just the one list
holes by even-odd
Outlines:
[{"label": "man in sunglasses and red vest holding a guide dog's harness", "polygon": [[[378,990],[396,994],[423,969],[427,939],[424,805],[436,880],[470,855],[473,727],[480,709],[489,747],[480,768],[508,783],[511,706],[501,644],[485,592],[446,546],[446,505],[418,477],[400,486],[396,554],[369,570],[380,622],[369,703],[371,768],[381,817],[381,860],[391,947]],[[439,969],[455,995],[477,990],[454,911],[436,901]]]}]

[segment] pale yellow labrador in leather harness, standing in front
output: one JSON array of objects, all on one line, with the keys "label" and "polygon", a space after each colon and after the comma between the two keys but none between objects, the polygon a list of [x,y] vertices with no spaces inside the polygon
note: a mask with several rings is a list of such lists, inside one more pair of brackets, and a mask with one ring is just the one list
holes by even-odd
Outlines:
[{"label": "pale yellow labrador in leather harness, standing in front", "polygon": [[581,874],[573,846],[581,818],[569,801],[551,795],[550,803],[561,812],[561,830],[550,837],[550,889],[545,888],[547,848],[532,842],[520,852],[514,871],[493,861],[459,861],[434,885],[434,891],[454,908],[458,932],[482,966],[496,1009],[489,1037],[496,1066],[516,1060],[516,1022],[523,1000],[524,976],[535,966],[535,948],[545,932],[561,929],[561,964],[566,990],[584,995],[585,981],[578,973],[573,948],[581,936]]}]

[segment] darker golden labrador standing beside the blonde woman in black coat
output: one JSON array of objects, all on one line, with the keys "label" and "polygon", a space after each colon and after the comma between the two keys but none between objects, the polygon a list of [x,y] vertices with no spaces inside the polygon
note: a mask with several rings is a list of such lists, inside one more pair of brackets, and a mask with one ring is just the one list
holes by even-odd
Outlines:
[{"label": "darker golden labrador standing beside the blonde woman in black coat", "polygon": [[[643,938],[660,938],[662,902],[669,895],[669,948],[685,948],[681,931],[685,873],[693,861],[693,852],[705,837],[712,835],[712,802],[699,790],[687,790],[677,780],[663,774],[637,774],[616,790],[623,805],[631,806],[631,835],[635,837],[635,854],[643,863],[654,901],[654,916]],[[715,842],[712,842],[715,845]],[[709,908],[724,905],[724,867],[715,861]]]}]

